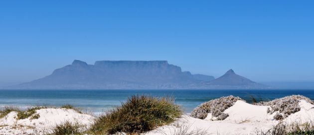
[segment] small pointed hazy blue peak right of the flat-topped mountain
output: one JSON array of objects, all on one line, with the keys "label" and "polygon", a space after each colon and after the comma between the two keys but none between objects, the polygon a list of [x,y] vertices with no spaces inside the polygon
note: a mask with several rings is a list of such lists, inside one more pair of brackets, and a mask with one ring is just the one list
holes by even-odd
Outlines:
[{"label": "small pointed hazy blue peak right of the flat-topped mountain", "polygon": [[256,83],[248,78],[236,74],[232,69],[224,75],[206,83],[211,87],[217,88],[243,88],[243,89],[260,89],[266,88],[266,85]]}]

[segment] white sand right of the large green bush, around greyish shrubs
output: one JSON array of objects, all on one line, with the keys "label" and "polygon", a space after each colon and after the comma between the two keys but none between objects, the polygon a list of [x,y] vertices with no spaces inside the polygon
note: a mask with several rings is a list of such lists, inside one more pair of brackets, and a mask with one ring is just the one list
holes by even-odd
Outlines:
[{"label": "white sand right of the large green bush, around greyish shrubs", "polygon": [[[290,115],[284,121],[306,122],[314,120],[314,105],[302,100],[301,110]],[[180,127],[188,128],[189,131],[206,131],[212,135],[250,135],[257,130],[269,130],[279,122],[273,119],[273,115],[267,114],[268,106],[257,106],[238,100],[232,107],[226,109],[224,113],[229,114],[223,121],[211,121],[211,114],[204,120],[192,118],[184,115],[177,122],[170,126],[162,126],[145,135],[171,135],[179,131]]]}]

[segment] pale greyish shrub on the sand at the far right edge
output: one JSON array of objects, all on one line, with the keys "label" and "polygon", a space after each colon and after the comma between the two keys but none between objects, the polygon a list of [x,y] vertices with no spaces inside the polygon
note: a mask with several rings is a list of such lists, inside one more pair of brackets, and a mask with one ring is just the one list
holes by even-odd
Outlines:
[{"label": "pale greyish shrub on the sand at the far right edge", "polygon": [[305,96],[291,95],[275,99],[269,102],[260,102],[257,103],[256,105],[270,106],[270,108],[267,109],[267,113],[273,114],[275,112],[279,112],[274,116],[274,119],[282,120],[287,118],[289,115],[300,111],[301,109],[299,106],[300,100],[306,100],[307,102],[314,104],[314,102],[311,99]]}]

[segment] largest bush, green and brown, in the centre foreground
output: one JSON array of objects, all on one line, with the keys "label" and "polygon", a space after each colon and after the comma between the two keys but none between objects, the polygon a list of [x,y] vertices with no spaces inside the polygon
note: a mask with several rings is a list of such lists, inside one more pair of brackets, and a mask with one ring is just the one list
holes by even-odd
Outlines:
[{"label": "largest bush, green and brown, in the centre foreground", "polygon": [[173,98],[137,95],[97,118],[90,131],[98,135],[144,133],[172,123],[181,114],[182,111],[174,104]]}]

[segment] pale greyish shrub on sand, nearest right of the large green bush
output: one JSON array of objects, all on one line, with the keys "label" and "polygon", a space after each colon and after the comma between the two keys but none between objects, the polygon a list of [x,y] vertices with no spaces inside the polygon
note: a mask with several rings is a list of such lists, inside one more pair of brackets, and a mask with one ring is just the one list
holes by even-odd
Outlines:
[{"label": "pale greyish shrub on sand, nearest right of the large green bush", "polygon": [[191,117],[205,119],[208,113],[211,113],[217,120],[224,120],[229,115],[223,113],[226,109],[233,106],[237,100],[242,100],[240,97],[227,96],[218,99],[213,99],[197,106],[191,113]]}]

